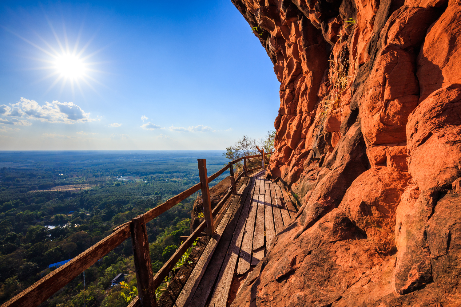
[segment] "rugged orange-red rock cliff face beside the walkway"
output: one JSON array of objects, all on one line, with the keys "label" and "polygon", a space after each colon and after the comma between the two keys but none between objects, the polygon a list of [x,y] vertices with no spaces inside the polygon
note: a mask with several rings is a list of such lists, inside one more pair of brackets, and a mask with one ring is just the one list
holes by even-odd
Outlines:
[{"label": "rugged orange-red rock cliff face beside the walkway", "polygon": [[232,306],[461,306],[461,0],[231,0],[299,213]]}]

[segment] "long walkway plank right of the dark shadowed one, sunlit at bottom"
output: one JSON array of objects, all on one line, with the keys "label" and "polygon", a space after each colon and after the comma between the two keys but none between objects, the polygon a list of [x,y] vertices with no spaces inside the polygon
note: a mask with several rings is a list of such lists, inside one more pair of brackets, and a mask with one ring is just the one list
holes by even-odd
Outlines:
[{"label": "long walkway plank right of the dark shadowed one, sunlit at bottom", "polygon": [[[250,191],[252,188],[248,189]],[[231,289],[232,278],[234,277],[237,258],[242,245],[243,233],[245,231],[245,223],[247,220],[248,212],[251,204],[251,194],[247,194],[243,204],[242,212],[238,220],[237,226],[232,236],[231,245],[227,251],[223,266],[219,272],[218,281],[213,290],[209,307],[225,307]]]}]

